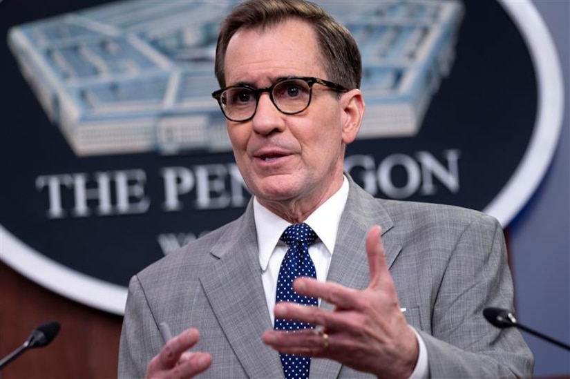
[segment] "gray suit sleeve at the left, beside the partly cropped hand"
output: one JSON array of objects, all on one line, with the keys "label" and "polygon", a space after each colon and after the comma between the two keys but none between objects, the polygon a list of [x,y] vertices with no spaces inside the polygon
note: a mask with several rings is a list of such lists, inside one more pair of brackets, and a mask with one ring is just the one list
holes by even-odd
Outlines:
[{"label": "gray suit sleeve at the left, beside the partly cropped hand", "polygon": [[131,278],[121,331],[118,378],[144,378],[149,364],[162,347],[157,322],[137,276]]}]

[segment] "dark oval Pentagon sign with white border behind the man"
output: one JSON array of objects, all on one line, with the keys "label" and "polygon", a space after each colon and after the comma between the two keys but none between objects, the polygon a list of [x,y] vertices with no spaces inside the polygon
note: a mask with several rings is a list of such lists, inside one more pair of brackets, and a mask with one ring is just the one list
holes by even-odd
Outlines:
[{"label": "dark oval Pentagon sign with white border behind the man", "polygon": [[[506,226],[542,179],[562,117],[550,37],[525,29],[531,3],[319,3],[363,55],[365,119],[345,171],[372,195],[475,208]],[[234,5],[0,3],[5,262],[122,313],[131,275],[243,213],[249,193],[210,96]]]}]

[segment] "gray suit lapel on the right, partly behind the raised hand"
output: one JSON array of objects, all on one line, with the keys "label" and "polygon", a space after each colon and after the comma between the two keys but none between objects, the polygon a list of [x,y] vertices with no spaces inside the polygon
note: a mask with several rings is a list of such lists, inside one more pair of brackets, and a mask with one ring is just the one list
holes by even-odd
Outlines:
[{"label": "gray suit lapel on the right, partly behind the raised hand", "polygon": [[[350,191],[339,223],[336,244],[330,262],[327,281],[353,289],[365,289],[370,283],[365,239],[374,224],[382,227],[382,241],[388,267],[396,260],[401,245],[392,242],[390,229],[394,226],[378,200],[350,180]],[[332,311],[334,305],[321,302],[321,307]],[[311,362],[312,378],[336,378],[342,365],[334,360],[314,359]]]}]

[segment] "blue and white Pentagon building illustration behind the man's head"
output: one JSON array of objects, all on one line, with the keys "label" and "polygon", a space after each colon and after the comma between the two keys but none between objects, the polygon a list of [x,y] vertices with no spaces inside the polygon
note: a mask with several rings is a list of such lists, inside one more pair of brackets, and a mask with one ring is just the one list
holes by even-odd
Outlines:
[{"label": "blue and white Pentagon building illustration behind the man's head", "polygon": [[[15,26],[9,46],[78,156],[229,151],[210,94],[236,1],[116,1]],[[411,137],[453,64],[462,3],[320,1],[363,56],[359,138]]]}]

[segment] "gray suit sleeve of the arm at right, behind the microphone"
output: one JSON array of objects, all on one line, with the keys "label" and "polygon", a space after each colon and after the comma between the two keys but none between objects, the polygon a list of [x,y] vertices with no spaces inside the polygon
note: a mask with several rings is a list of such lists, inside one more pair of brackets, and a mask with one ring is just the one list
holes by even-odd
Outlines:
[{"label": "gray suit sleeve of the arm at right, behind the microphone", "polygon": [[515,328],[497,329],[482,312],[513,309],[513,282],[500,224],[482,215],[459,235],[441,278],[431,334],[419,331],[431,378],[529,378],[533,356]]}]

